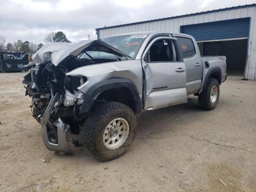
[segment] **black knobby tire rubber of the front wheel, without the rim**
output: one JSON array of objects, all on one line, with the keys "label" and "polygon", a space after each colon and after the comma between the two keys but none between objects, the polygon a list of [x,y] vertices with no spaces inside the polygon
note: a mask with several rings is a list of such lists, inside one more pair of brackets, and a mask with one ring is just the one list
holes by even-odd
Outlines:
[{"label": "black knobby tire rubber of the front wheel, without the rim", "polygon": [[[104,146],[103,133],[106,126],[115,118],[124,118],[129,124],[126,141],[117,149],[110,150]],[[135,136],[137,120],[128,106],[119,102],[104,102],[93,106],[84,123],[84,147],[100,161],[110,161],[124,154]]]}]

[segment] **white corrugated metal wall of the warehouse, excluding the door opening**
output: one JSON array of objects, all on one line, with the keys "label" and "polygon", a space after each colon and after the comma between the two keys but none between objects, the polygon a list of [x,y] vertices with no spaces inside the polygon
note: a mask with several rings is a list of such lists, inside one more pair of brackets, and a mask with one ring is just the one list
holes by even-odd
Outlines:
[{"label": "white corrugated metal wall of the warehouse, excluding the door opening", "polygon": [[162,20],[152,20],[138,24],[127,24],[123,26],[113,26],[111,28],[98,29],[99,38],[106,36],[143,31],[168,31],[180,32],[180,26],[214,22],[221,20],[250,17],[250,33],[248,41],[248,59],[244,78],[256,80],[256,5],[242,6],[241,8],[222,9],[203,14],[192,14],[182,17],[167,18]]}]

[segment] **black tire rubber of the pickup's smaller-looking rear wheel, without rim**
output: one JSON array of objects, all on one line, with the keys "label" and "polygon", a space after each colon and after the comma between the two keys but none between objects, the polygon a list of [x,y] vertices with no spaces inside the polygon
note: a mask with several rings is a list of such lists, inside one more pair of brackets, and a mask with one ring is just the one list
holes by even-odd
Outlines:
[{"label": "black tire rubber of the pickup's smaller-looking rear wheel, without rim", "polygon": [[[210,94],[212,87],[216,86],[218,93],[217,93],[217,99],[215,102],[211,102]],[[218,100],[220,96],[220,85],[218,80],[215,78],[209,78],[206,87],[202,91],[202,93],[198,96],[198,103],[200,108],[205,110],[212,110],[216,107]]]}]

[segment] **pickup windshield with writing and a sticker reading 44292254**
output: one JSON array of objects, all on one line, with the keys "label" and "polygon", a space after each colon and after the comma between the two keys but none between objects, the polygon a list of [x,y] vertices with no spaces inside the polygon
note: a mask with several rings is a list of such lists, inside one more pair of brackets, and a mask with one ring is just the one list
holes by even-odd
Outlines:
[{"label": "pickup windshield with writing and a sticker reading 44292254", "polygon": [[106,44],[124,52],[133,59],[136,57],[147,35],[123,35],[101,39]]}]

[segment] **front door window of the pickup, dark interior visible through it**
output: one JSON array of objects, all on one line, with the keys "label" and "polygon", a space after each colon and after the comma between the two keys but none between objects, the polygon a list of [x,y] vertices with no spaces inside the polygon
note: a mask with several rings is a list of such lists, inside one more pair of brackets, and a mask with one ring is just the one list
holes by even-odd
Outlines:
[{"label": "front door window of the pickup, dark interior visible through it", "polygon": [[172,40],[157,40],[148,50],[146,62],[174,62],[177,60],[174,42]]}]

